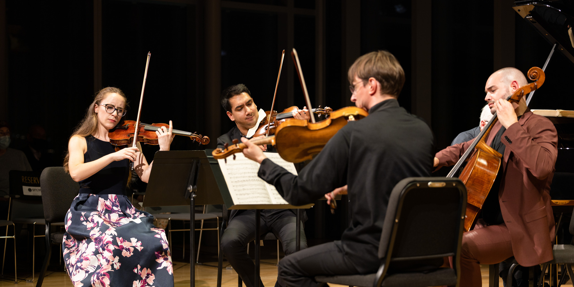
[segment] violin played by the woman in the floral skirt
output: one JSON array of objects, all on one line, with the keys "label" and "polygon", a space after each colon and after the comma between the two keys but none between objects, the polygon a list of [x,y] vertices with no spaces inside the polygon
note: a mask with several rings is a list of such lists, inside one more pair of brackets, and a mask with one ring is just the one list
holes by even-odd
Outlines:
[{"label": "violin played by the woman in the floral skirt", "polygon": [[[135,135],[135,126],[138,126],[137,136]],[[135,125],[135,121],[125,120],[119,125],[110,130],[108,134],[110,137],[110,143],[112,145],[130,145],[134,142],[134,137],[137,137],[138,142],[143,142],[144,144],[158,145],[157,141],[157,129],[165,127],[169,130],[169,125],[167,123],[152,123],[148,125],[147,123],[139,123]],[[173,130],[172,134],[184,135],[192,139],[192,141],[199,142],[199,144],[207,145],[210,143],[210,138],[205,137],[201,134],[189,133],[183,130]]]}]

